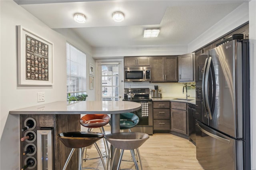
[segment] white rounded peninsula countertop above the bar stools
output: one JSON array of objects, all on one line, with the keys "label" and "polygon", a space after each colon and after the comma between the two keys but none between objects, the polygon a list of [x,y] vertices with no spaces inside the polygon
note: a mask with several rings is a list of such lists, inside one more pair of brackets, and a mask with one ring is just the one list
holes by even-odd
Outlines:
[{"label": "white rounded peninsula countertop above the bar stools", "polygon": [[140,103],[131,101],[56,101],[43,105],[12,110],[20,114],[118,114],[137,111]]}]

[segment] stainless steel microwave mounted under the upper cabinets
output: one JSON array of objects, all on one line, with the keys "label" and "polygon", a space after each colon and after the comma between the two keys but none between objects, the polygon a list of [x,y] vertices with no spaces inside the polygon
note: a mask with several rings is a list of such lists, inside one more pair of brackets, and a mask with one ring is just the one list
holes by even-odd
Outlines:
[{"label": "stainless steel microwave mounted under the upper cabinets", "polygon": [[124,81],[151,81],[150,67],[125,67]]}]

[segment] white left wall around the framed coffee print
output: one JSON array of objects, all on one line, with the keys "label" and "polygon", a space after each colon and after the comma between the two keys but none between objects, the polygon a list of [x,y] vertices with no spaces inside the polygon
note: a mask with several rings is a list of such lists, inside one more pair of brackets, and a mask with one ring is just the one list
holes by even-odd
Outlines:
[{"label": "white left wall around the framed coffee print", "polygon": [[[20,169],[20,122],[19,116],[9,115],[9,111],[54,101],[66,101],[67,39],[12,0],[0,1],[0,25],[0,169],[18,170]],[[17,25],[54,43],[54,85],[17,85]],[[74,45],[75,42],[80,42],[76,37],[69,40]],[[78,48],[88,50],[89,53],[91,51],[85,43]],[[90,55],[88,62],[93,62]],[[37,92],[41,91],[45,92],[45,102],[37,103]]]}]

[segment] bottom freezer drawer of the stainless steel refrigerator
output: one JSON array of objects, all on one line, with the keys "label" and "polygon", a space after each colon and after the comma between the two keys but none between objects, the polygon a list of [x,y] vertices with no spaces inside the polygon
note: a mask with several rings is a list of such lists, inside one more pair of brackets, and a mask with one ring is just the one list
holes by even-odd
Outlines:
[{"label": "bottom freezer drawer of the stainless steel refrigerator", "polygon": [[196,121],[196,158],[204,170],[242,170],[242,140],[234,140]]}]

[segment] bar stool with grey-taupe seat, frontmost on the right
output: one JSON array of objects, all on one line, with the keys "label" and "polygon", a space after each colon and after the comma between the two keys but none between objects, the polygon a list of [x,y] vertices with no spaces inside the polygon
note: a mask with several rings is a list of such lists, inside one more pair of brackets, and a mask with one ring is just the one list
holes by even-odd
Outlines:
[{"label": "bar stool with grey-taupe seat, frontmost on the right", "polygon": [[[112,133],[112,134],[106,134],[104,136],[104,138],[106,138],[106,140],[108,140],[108,142],[110,142],[111,146],[114,147],[114,153],[112,155],[113,158],[115,158],[116,150],[117,149],[121,150],[117,170],[120,169],[120,164],[122,161],[122,156],[124,154],[124,150],[130,150],[130,152],[132,154],[133,162],[135,164],[135,168],[136,168],[136,170],[139,170],[138,163],[135,159],[134,149],[136,149],[136,151],[138,153],[138,157],[140,160],[140,167],[142,169],[142,162],[140,159],[140,152],[139,152],[138,148],[146,140],[148,140],[148,138],[149,138],[148,134],[142,133],[142,132],[117,132],[117,133]],[[109,161],[110,161],[110,151],[108,152],[108,162]],[[107,162],[107,169],[108,169],[108,162]],[[110,164],[111,170],[113,168],[113,163],[114,163],[114,159],[112,159],[112,162]]]}]

